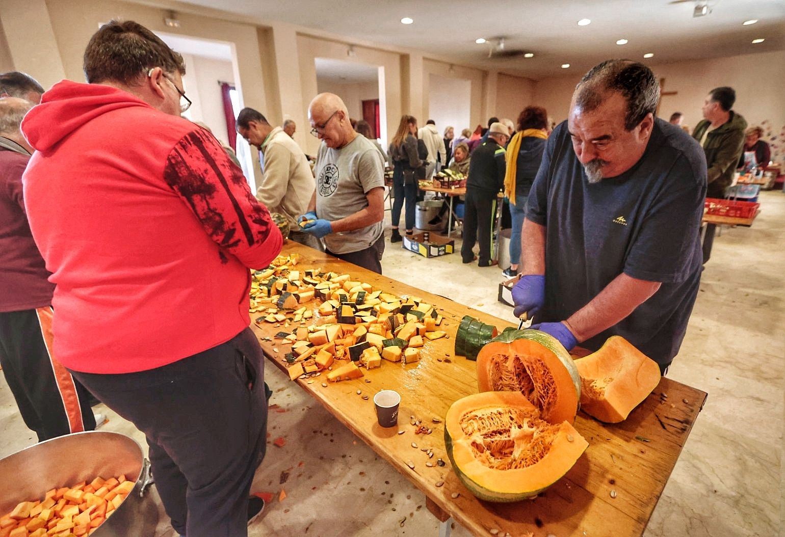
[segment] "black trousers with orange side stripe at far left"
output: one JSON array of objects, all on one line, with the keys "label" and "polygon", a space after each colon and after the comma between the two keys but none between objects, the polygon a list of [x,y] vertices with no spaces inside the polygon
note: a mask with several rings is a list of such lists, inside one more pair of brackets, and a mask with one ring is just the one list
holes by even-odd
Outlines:
[{"label": "black trousers with orange side stripe at far left", "polygon": [[51,308],[0,313],[0,366],[38,441],[91,431],[89,393],[51,352]]}]

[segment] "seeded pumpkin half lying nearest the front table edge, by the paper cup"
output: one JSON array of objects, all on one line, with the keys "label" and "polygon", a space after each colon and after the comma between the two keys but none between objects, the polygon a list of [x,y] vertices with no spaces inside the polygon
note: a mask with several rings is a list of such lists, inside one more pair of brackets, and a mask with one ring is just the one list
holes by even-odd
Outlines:
[{"label": "seeded pumpkin half lying nearest the front table edge, by the paper cup", "polygon": [[455,401],[444,444],[462,484],[488,502],[517,502],[554,484],[589,444],[568,422],[551,424],[520,392]]}]

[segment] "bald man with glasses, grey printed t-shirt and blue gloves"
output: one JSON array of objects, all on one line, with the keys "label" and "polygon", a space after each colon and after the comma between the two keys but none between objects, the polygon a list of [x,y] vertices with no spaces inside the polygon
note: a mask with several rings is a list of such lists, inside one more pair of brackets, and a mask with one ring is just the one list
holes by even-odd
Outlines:
[{"label": "bald man with glasses, grey printed t-shirt and blue gloves", "polygon": [[384,161],[358,136],[341,97],[319,93],[308,109],[312,135],[322,141],[316,156],[316,192],[303,231],[323,237],[327,253],[382,273],[385,250]]}]

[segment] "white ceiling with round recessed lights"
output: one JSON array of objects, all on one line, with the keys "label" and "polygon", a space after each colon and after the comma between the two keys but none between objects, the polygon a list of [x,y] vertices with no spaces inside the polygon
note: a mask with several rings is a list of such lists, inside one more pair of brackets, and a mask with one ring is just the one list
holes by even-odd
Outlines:
[{"label": "white ceiling with round recessed lights", "polygon": [[[695,0],[185,0],[263,20],[419,49],[455,63],[495,68],[532,79],[586,71],[611,57],[651,64],[785,49],[785,0],[708,0],[713,12],[694,18]],[[400,24],[410,16],[414,24]],[[588,18],[592,23],[579,27]],[[748,19],[758,24],[742,26]],[[533,58],[487,59],[476,38],[506,37],[506,49]],[[618,46],[617,39],[628,44]],[[754,38],[765,42],[753,45]]]}]

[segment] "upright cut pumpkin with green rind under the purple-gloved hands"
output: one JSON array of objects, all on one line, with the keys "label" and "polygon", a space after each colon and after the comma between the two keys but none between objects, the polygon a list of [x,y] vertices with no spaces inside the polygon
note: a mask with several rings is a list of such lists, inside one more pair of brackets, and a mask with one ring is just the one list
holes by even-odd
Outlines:
[{"label": "upright cut pumpkin with green rind under the purple-gloved hands", "polygon": [[480,392],[522,393],[550,423],[574,422],[581,385],[564,347],[538,330],[506,330],[477,356]]}]

